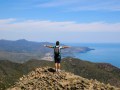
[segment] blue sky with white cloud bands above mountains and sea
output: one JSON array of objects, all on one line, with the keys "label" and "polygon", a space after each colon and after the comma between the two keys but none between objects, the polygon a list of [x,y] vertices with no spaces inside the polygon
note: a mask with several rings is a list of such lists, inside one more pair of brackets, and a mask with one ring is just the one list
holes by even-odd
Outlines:
[{"label": "blue sky with white cloud bands above mountains and sea", "polygon": [[120,43],[120,0],[0,0],[0,39]]}]

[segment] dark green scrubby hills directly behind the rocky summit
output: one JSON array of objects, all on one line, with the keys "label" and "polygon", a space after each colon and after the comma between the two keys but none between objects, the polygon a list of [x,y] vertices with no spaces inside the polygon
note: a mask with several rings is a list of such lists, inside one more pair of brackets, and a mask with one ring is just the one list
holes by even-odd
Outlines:
[{"label": "dark green scrubby hills directly behind the rocky summit", "polygon": [[[87,79],[96,79],[105,84],[120,87],[120,69],[107,63],[92,63],[76,58],[64,58],[62,70]],[[23,64],[8,60],[0,61],[0,88],[5,89],[17,82],[20,77],[39,67],[54,67],[54,62],[45,60],[29,60]]]}]

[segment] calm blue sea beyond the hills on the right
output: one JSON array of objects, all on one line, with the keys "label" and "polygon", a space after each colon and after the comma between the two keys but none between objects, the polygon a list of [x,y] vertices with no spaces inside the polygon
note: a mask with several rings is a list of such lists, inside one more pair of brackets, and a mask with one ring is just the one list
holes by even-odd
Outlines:
[{"label": "calm blue sea beyond the hills on the right", "polygon": [[85,53],[74,53],[76,58],[95,63],[110,63],[120,68],[120,43],[67,43],[67,45],[94,49]]}]

